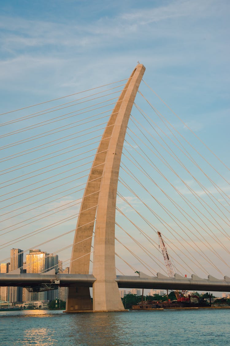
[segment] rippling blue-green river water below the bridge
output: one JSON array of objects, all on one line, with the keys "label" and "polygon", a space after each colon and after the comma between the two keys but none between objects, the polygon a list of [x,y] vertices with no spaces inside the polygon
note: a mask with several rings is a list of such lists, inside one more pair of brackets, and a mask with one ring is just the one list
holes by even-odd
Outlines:
[{"label": "rippling blue-green river water below the bridge", "polygon": [[230,310],[0,312],[0,345],[230,345]]}]

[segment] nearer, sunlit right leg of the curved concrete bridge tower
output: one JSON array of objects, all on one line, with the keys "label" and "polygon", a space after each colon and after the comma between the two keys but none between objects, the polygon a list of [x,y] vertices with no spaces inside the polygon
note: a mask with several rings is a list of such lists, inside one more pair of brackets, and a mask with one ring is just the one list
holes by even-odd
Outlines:
[{"label": "nearer, sunlit right leg of the curved concrete bridge tower", "polygon": [[94,237],[93,275],[96,281],[93,283],[93,311],[124,310],[115,281],[117,184],[128,120],[144,71],[145,67],[138,64],[123,92],[104,163]]}]

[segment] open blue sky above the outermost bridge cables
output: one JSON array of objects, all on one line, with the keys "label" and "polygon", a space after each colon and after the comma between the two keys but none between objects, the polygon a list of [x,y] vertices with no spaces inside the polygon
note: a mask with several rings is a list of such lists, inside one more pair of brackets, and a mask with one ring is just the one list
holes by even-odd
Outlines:
[{"label": "open blue sky above the outermost bridge cables", "polygon": [[229,14],[224,0],[1,0],[0,113],[128,78],[140,62],[229,165]]}]

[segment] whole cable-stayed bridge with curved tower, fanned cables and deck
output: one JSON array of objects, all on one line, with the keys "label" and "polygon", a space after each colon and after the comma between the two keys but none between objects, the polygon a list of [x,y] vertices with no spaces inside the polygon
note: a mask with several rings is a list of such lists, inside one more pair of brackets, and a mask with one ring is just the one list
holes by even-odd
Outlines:
[{"label": "whole cable-stayed bridge with curved tower, fanned cables and deck", "polygon": [[0,261],[45,247],[70,264],[70,274],[0,274],[1,285],[60,280],[67,311],[123,310],[118,286],[229,291],[229,169],[144,70],[1,115]]}]

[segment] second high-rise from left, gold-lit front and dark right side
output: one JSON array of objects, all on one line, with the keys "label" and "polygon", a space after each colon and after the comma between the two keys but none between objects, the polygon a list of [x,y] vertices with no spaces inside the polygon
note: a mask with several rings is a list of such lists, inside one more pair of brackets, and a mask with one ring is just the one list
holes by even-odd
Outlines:
[{"label": "second high-rise from left, gold-lit front and dark right side", "polygon": [[[10,250],[10,267],[9,272],[15,269],[22,269],[23,266],[23,250],[21,249],[11,249]],[[22,287],[9,287],[8,291],[9,302],[22,301]]]}]

